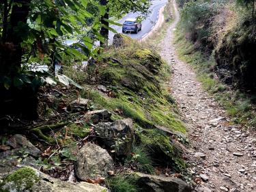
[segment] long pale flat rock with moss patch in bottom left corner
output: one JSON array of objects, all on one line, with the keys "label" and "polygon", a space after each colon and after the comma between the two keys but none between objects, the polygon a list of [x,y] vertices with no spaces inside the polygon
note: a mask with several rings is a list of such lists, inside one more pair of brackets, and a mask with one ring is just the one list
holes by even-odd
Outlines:
[{"label": "long pale flat rock with moss patch in bottom left corner", "polygon": [[12,172],[0,174],[0,191],[37,192],[106,192],[108,189],[88,182],[70,183],[35,170],[32,167],[16,167]]}]

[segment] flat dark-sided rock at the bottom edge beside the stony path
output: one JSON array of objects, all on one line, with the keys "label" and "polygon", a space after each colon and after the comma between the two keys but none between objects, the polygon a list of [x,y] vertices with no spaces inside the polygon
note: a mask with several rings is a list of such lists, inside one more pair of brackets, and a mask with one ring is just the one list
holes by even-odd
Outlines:
[{"label": "flat dark-sided rock at the bottom edge beside the stony path", "polygon": [[138,185],[147,192],[190,192],[192,189],[180,178],[136,173]]}]

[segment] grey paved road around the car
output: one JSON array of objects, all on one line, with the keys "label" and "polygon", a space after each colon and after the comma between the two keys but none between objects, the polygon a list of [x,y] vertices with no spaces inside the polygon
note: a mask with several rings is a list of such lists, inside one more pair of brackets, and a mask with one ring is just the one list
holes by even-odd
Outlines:
[{"label": "grey paved road around the car", "polygon": [[[145,20],[143,20],[142,23],[142,30],[139,31],[139,33],[126,33],[126,35],[132,37],[133,39],[141,39],[142,37],[144,37],[145,35],[147,35],[147,33],[149,33],[153,27],[156,25],[156,22],[158,21],[158,15],[159,15],[159,10],[162,6],[164,6],[167,3],[168,0],[155,0],[152,1],[152,5],[150,7],[150,14],[149,16],[147,16],[147,18]],[[127,18],[137,18],[137,16],[139,16],[139,13],[128,13],[126,16],[124,16],[124,18],[120,19],[118,22],[120,24],[123,24],[124,21]],[[111,26],[113,27],[113,29],[115,29],[115,31],[117,31],[118,33],[122,33],[122,26]],[[112,42],[113,41],[113,36],[115,35],[115,33],[111,32],[109,33],[109,41]]]}]

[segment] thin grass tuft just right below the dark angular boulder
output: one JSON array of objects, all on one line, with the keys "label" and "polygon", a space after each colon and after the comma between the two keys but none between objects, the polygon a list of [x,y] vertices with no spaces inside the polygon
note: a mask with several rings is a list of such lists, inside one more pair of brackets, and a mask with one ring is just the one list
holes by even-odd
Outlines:
[{"label": "thin grass tuft just right below the dark angular boulder", "polygon": [[145,146],[134,146],[132,154],[126,159],[126,163],[137,167],[139,172],[145,172],[147,174],[154,173],[153,161]]}]

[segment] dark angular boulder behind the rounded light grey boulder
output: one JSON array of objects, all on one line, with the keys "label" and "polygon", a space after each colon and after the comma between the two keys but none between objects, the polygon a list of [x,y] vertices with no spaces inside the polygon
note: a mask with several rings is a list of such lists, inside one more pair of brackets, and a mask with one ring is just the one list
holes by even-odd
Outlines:
[{"label": "dark angular boulder behind the rounded light grey boulder", "polygon": [[129,155],[134,142],[134,127],[131,118],[98,123],[94,128],[105,148],[115,150],[117,156]]}]

